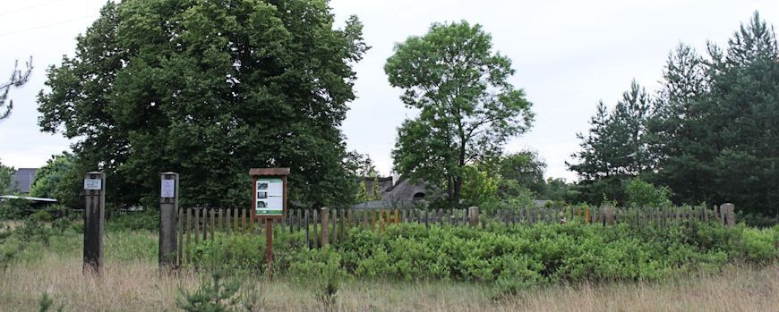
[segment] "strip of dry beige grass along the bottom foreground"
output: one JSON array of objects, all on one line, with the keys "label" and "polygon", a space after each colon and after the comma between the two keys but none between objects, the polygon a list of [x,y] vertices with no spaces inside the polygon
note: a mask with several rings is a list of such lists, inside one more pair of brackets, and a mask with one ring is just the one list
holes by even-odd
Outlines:
[{"label": "strip of dry beige grass along the bottom foreground", "polygon": [[[0,310],[38,308],[46,291],[65,311],[172,311],[180,288],[195,274],[158,274],[147,260],[109,260],[102,277],[81,274],[80,257],[48,254],[0,273]],[[270,311],[315,311],[320,305],[306,282],[260,282]],[[341,311],[779,311],[779,265],[730,267],[714,276],[661,283],[617,282],[552,286],[501,301],[489,285],[457,282],[345,282]]]}]

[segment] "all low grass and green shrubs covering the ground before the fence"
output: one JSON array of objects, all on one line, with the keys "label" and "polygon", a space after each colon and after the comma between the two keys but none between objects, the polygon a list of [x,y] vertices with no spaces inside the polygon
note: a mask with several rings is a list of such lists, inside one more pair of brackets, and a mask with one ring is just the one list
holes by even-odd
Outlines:
[{"label": "all low grass and green shrubs covering the ground before the fence", "polygon": [[[56,302],[47,307],[66,310],[599,310],[607,301],[612,308],[645,307],[647,296],[657,298],[647,309],[779,305],[779,227],[390,226],[386,232],[349,232],[348,240],[326,249],[301,249],[294,244],[299,235],[278,232],[276,263],[287,269],[272,282],[258,273],[264,240],[252,236],[223,237],[196,251],[203,259],[222,246],[243,263],[222,257],[224,266],[210,262],[168,275],[158,273],[155,234],[108,232],[106,270],[96,278],[81,274],[81,250],[73,249],[81,235],[73,227],[51,235],[47,245],[23,238],[25,231],[0,230],[0,251],[26,246],[0,271],[0,298],[14,310],[38,309],[43,294]],[[226,268],[236,274],[214,278]],[[665,301],[669,296],[673,302]]]}]

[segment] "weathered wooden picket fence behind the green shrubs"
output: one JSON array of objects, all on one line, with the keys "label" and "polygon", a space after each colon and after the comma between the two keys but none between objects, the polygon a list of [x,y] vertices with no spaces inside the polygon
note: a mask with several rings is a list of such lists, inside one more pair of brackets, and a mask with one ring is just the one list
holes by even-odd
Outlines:
[{"label": "weathered wooden picket fence behind the green shrubs", "polygon": [[[201,241],[215,240],[217,233],[230,236],[264,234],[265,220],[253,219],[251,209],[178,210],[176,236],[178,263],[189,262],[191,249]],[[629,223],[635,226],[667,226],[684,220],[722,223],[732,226],[735,215],[732,204],[713,209],[671,207],[657,209],[615,209],[612,207],[537,207],[520,210],[479,212],[467,209],[290,209],[282,219],[274,219],[273,231],[299,232],[300,246],[318,248],[344,240],[353,227],[383,230],[388,224],[419,223],[486,228],[490,223],[528,225],[533,223],[567,223],[576,220],[586,224]],[[221,234],[220,234],[221,235]]]}]

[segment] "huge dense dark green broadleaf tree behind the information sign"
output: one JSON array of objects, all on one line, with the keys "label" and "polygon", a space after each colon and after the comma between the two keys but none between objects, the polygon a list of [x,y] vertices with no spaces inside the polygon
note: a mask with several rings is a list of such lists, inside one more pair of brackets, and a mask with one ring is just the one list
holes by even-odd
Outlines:
[{"label": "huge dense dark green broadleaf tree behind the information sign", "polygon": [[78,139],[112,204],[156,206],[174,171],[183,206],[248,207],[251,167],[290,167],[296,202],[342,204],[338,126],[368,47],[355,16],[333,20],[326,1],[108,2],[48,69],[39,125]]}]

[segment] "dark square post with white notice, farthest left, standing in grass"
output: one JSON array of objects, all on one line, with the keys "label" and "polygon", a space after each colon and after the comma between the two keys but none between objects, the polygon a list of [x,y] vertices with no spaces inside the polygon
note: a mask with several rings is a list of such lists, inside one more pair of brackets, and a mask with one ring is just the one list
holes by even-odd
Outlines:
[{"label": "dark square post with white notice, farthest left, standing in grass", "polygon": [[103,233],[106,224],[106,174],[87,173],[84,177],[84,259],[83,272],[100,274],[103,266]]}]

